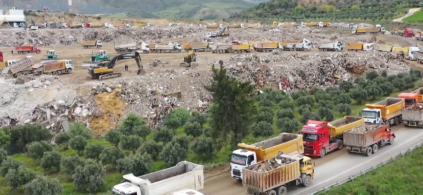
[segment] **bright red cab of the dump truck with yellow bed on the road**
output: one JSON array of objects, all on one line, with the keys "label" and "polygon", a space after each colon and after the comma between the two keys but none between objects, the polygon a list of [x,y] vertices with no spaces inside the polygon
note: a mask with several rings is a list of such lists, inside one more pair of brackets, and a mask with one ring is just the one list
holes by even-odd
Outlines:
[{"label": "bright red cab of the dump truck with yellow bed on the road", "polygon": [[[339,142],[330,140],[328,122],[308,120],[301,129],[303,134],[304,154],[312,157],[323,157],[338,149]],[[341,146],[342,148],[342,146]]]}]

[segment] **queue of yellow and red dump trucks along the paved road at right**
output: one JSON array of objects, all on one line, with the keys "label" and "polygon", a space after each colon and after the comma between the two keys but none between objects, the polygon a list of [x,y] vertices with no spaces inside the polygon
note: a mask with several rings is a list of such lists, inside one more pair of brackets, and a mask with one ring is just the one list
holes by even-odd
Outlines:
[{"label": "queue of yellow and red dump trucks along the paved road at right", "polygon": [[[314,178],[314,163],[308,156],[324,157],[344,147],[348,153],[371,156],[379,147],[394,143],[396,135],[390,126],[400,123],[423,128],[423,87],[366,104],[360,117],[308,120],[300,134],[282,133],[254,144],[239,143],[240,149],[231,155],[231,177],[242,180],[250,195],[286,193],[288,183],[306,187]],[[257,169],[268,167],[263,163],[280,161],[289,163]]]}]

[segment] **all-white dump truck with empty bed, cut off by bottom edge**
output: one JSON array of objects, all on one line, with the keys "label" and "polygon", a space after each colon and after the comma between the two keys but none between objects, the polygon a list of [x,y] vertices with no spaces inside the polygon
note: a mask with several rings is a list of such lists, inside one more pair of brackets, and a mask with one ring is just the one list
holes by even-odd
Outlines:
[{"label": "all-white dump truck with empty bed, cut off by bottom edge", "polygon": [[[143,176],[127,174],[111,189],[113,195],[201,195],[204,188],[203,165],[182,161],[173,167]],[[196,194],[182,194],[188,190]]]}]

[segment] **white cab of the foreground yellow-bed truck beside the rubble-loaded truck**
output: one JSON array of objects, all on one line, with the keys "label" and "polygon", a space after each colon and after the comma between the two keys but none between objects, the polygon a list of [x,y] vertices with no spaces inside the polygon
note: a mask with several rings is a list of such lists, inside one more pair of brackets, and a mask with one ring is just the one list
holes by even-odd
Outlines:
[{"label": "white cab of the foreground yellow-bed truck beside the rubble-loaded truck", "polygon": [[242,169],[254,164],[257,164],[255,152],[244,149],[235,150],[231,155],[231,177],[241,181]]}]

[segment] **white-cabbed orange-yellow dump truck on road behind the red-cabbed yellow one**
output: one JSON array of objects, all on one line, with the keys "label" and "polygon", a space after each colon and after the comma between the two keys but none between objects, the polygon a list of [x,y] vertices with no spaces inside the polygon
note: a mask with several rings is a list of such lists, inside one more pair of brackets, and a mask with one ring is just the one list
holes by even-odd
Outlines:
[{"label": "white-cabbed orange-yellow dump truck on road behind the red-cabbed yellow one", "polygon": [[374,104],[366,104],[360,113],[366,123],[398,125],[402,122],[402,109],[405,101],[402,98],[386,98]]}]

